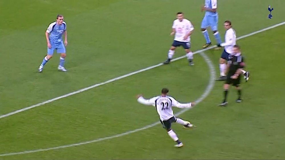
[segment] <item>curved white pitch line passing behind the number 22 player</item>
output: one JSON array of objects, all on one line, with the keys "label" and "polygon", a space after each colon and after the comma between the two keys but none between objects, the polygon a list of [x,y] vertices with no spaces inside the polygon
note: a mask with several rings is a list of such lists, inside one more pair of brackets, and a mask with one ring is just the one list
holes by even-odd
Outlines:
[{"label": "curved white pitch line passing behind the number 22 player", "polygon": [[[207,62],[207,65],[209,66],[210,69],[210,80],[209,80],[209,84],[205,90],[205,92],[195,101],[196,104],[200,103],[203,99],[205,99],[209,93],[211,92],[211,90],[214,87],[215,84],[215,67],[213,65],[213,63],[211,62],[210,58],[204,53],[204,52],[200,52],[201,56],[205,59],[205,61]],[[190,108],[188,109],[183,109],[182,111],[178,112],[177,114],[175,114],[175,116],[179,116],[182,113],[188,111]],[[61,148],[67,148],[67,147],[74,147],[74,146],[80,146],[80,145],[84,145],[84,144],[89,144],[89,143],[94,143],[94,142],[100,142],[103,140],[109,140],[109,139],[113,139],[113,138],[117,138],[117,137],[121,137],[121,136],[125,136],[131,133],[135,133],[135,132],[139,132],[141,130],[145,130],[147,128],[150,128],[152,126],[155,126],[157,124],[159,124],[160,122],[155,122],[153,124],[144,126],[143,128],[139,128],[136,130],[131,130],[128,132],[124,132],[121,134],[116,134],[113,136],[109,136],[109,137],[104,137],[104,138],[99,138],[99,139],[95,139],[95,140],[91,140],[91,141],[86,141],[86,142],[80,142],[80,143],[74,143],[74,144],[69,144],[69,145],[64,145],[64,146],[57,146],[57,147],[50,147],[50,148],[44,148],[44,149],[36,149],[36,150],[30,150],[30,151],[23,151],[23,152],[15,152],[15,153],[6,153],[6,154],[1,154],[0,157],[3,156],[8,156],[8,155],[19,155],[19,154],[27,154],[27,153],[35,153],[35,152],[41,152],[41,151],[49,151],[49,150],[55,150],[55,149],[61,149]]]}]

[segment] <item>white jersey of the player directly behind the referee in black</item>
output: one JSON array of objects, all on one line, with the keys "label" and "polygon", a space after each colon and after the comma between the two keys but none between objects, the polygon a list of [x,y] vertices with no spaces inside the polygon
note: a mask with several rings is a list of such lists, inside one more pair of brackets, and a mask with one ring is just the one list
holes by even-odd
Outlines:
[{"label": "white jersey of the player directly behind the referee in black", "polygon": [[225,33],[225,43],[221,43],[222,47],[225,47],[225,51],[227,53],[233,53],[233,46],[237,44],[236,42],[237,36],[235,34],[235,30],[230,28]]}]

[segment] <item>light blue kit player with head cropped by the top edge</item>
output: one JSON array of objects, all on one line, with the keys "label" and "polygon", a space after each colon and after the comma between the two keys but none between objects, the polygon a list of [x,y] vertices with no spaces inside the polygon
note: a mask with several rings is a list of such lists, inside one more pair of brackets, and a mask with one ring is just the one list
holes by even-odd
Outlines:
[{"label": "light blue kit player with head cropped by the top edge", "polygon": [[[218,12],[217,12],[217,0],[205,0],[205,5],[202,6],[201,11],[205,11],[205,16],[201,23],[201,31],[206,39],[206,44],[203,48],[207,48],[211,45],[211,40],[207,31],[210,26],[217,44],[221,44],[221,36],[218,32]],[[221,47],[216,47],[215,49],[221,49]]]}]

